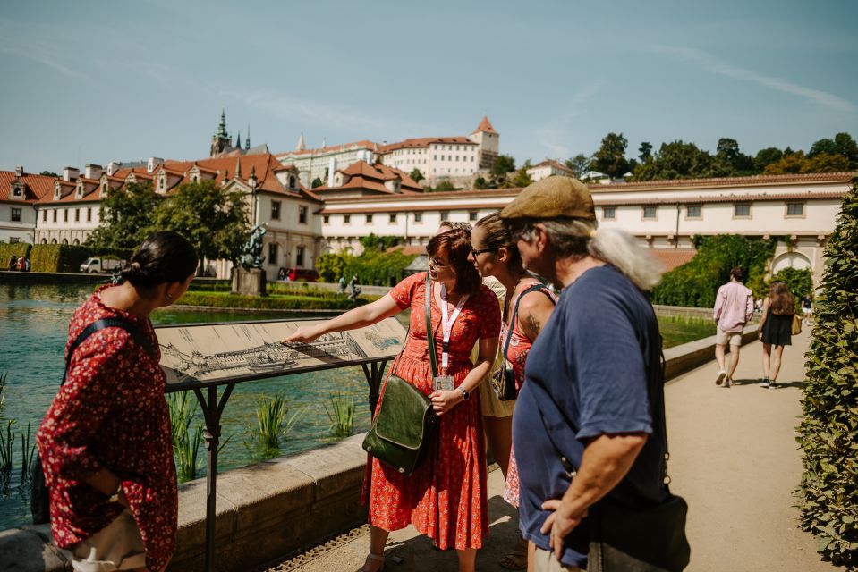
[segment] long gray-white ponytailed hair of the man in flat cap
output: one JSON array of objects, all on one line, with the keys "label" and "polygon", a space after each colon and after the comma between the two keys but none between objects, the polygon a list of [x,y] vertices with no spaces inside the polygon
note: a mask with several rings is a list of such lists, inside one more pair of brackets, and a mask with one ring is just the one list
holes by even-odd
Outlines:
[{"label": "long gray-white ponytailed hair of the man in flat cap", "polygon": [[662,266],[627,231],[599,229],[596,221],[586,219],[556,218],[528,221],[515,234],[532,240],[537,223],[545,227],[557,257],[598,258],[615,266],[641,290],[650,290],[661,281]]}]

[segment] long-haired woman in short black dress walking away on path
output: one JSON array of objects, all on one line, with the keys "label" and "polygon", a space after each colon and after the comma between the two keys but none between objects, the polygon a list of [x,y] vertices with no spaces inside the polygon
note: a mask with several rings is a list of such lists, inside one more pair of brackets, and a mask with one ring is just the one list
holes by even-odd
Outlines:
[{"label": "long-haired woman in short black dress walking away on path", "polygon": [[[760,387],[777,389],[784,347],[793,343],[795,299],[786,282],[776,280],[769,286],[769,296],[762,302],[760,341],[762,341],[762,380]],[[772,351],[774,349],[774,351]]]}]

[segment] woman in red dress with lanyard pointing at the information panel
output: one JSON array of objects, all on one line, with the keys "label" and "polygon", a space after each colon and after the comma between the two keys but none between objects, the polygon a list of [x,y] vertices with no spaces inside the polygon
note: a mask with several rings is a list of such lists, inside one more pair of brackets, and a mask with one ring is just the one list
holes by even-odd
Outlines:
[{"label": "woman in red dress with lanyard pointing at the information panel", "polygon": [[[435,391],[429,365],[429,336],[424,301],[425,274],[399,282],[387,296],[323,324],[305,326],[285,343],[312,341],[327,332],[343,332],[375,324],[411,308],[411,325],[394,373],[412,383],[432,400],[438,416],[437,441],[412,475],[402,475],[376,458],[370,458],[370,554],[361,570],[372,572],[384,563],[390,531],[413,525],[441,550],[454,548],[460,572],[471,572],[477,549],[488,534],[486,458],[480,396],[477,386],[488,374],[497,352],[500,308],[497,297],[480,283],[468,262],[470,232],[442,232],[429,240],[429,274],[432,277],[431,333],[442,369],[442,320],[453,321],[449,336],[448,366],[442,375],[453,377],[454,389]],[[455,308],[460,307],[456,316]],[[471,365],[474,343],[480,354]],[[384,389],[382,388],[382,391]],[[379,401],[380,402],[380,401]]]}]

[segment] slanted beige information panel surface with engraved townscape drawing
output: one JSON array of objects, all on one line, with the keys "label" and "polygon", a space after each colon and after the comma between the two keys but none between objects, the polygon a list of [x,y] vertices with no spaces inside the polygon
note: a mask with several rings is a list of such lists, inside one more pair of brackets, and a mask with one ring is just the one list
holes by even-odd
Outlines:
[{"label": "slanted beige information panel surface with engraved townscape drawing", "polygon": [[167,383],[212,382],[254,374],[287,374],[297,367],[395,357],[404,328],[388,318],[353,332],[327,333],[311,343],[280,343],[313,321],[254,322],[158,328]]}]

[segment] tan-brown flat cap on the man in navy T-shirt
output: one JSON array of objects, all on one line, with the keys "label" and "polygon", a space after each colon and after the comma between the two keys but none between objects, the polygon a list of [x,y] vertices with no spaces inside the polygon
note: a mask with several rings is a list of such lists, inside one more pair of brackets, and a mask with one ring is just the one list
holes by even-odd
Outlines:
[{"label": "tan-brown flat cap on the man in navy T-shirt", "polygon": [[553,176],[529,185],[500,212],[517,218],[583,218],[595,221],[596,208],[586,185],[572,177]]}]

